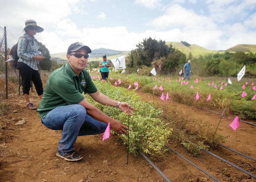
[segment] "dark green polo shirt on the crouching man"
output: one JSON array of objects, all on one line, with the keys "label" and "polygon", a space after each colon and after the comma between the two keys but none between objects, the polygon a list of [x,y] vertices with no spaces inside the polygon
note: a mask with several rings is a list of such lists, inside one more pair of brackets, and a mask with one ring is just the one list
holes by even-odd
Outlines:
[{"label": "dark green polo shirt on the crouching man", "polygon": [[44,118],[49,111],[58,106],[78,104],[84,100],[83,92],[97,92],[88,71],[83,70],[77,76],[70,65],[65,63],[54,70],[48,78],[37,112]]}]

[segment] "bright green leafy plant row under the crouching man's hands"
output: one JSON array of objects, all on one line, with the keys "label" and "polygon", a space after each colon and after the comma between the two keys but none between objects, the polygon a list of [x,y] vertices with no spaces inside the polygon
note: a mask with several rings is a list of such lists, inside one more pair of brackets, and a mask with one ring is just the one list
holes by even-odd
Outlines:
[{"label": "bright green leafy plant row under the crouching man's hands", "polygon": [[[150,103],[141,101],[134,92],[129,92],[127,97],[126,89],[124,88],[116,89],[110,83],[97,80],[94,83],[101,93],[112,99],[127,102],[137,109],[134,115],[129,118],[129,152],[137,156],[138,150],[141,150],[153,156],[163,156],[167,150],[164,144],[168,142],[172,129],[166,127],[168,123],[164,123],[159,119],[162,110],[154,108]],[[95,102],[89,95],[86,96],[88,102],[99,108],[103,113],[128,126],[128,115],[120,111],[120,109],[101,105]],[[113,130],[111,130],[111,133],[117,134]],[[128,144],[128,135],[117,135],[122,138],[124,144]]]}]

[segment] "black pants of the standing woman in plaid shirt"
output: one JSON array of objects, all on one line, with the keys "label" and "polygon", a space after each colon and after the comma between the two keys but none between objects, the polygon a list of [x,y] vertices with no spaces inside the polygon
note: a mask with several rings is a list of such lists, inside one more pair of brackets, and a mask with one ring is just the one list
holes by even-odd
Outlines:
[{"label": "black pants of the standing woman in plaid shirt", "polygon": [[20,70],[20,76],[22,80],[23,95],[25,93],[29,95],[31,80],[36,87],[37,95],[42,95],[44,93],[44,89],[43,89],[43,83],[40,78],[39,71],[32,69],[27,64],[22,62],[19,62],[18,69]]}]

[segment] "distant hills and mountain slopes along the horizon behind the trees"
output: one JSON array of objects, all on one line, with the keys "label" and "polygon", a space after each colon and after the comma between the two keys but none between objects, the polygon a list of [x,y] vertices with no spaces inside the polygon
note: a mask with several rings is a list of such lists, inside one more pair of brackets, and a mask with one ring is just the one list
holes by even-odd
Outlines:
[{"label": "distant hills and mountain slopes along the horizon behind the trees", "polygon": [[[191,52],[193,57],[199,57],[200,55],[204,56],[208,53],[224,53],[225,51],[228,51],[228,52],[251,51],[253,53],[256,53],[256,45],[251,45],[251,44],[239,44],[223,51],[209,50],[196,44],[188,44],[189,45],[188,46],[188,45],[182,44],[181,42],[166,42],[166,45],[170,45],[170,44],[172,44],[172,47],[179,49],[187,56]],[[105,54],[107,56],[107,59],[113,59],[121,55],[128,55],[129,53],[130,51],[118,51],[118,50],[106,49],[106,48],[93,49],[92,53],[90,53],[89,61],[101,61],[102,56]],[[66,53],[51,54],[51,59],[57,62],[66,61]]]}]

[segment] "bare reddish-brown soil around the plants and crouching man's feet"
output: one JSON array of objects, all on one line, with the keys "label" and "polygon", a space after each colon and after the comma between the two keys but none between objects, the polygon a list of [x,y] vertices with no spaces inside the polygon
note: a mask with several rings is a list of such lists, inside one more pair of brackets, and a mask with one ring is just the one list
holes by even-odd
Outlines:
[{"label": "bare reddish-brown soil around the plants and crouching man's feet", "polygon": [[[145,101],[151,101],[152,95],[138,92]],[[1,95],[4,97],[4,95]],[[35,93],[32,101],[38,104]],[[158,106],[174,106],[178,111],[190,115],[198,122],[211,123],[216,128],[220,115],[202,111],[173,101],[155,101]],[[78,137],[76,150],[82,154],[79,162],[66,162],[56,157],[56,148],[60,139],[59,131],[52,131],[41,124],[36,111],[25,107],[22,96],[10,94],[10,110],[0,116],[0,181],[3,182],[157,182],[165,181],[154,168],[142,157],[129,156],[126,165],[127,148],[117,136],[102,141],[102,135]],[[24,125],[14,124],[20,120]],[[240,122],[237,135],[228,126],[232,119],[222,118],[218,132],[226,137],[226,146],[256,158],[256,127]],[[252,121],[253,122],[253,121]],[[221,181],[256,181],[247,174],[236,170],[220,160],[203,153],[194,157],[180,144],[168,143],[168,146],[187,157],[189,160],[212,174]],[[230,160],[236,165],[256,174],[256,162],[229,152],[224,148],[214,150],[217,155]],[[164,174],[173,182],[214,181],[194,166],[188,164],[173,152],[167,152],[166,158],[150,157]]]}]

